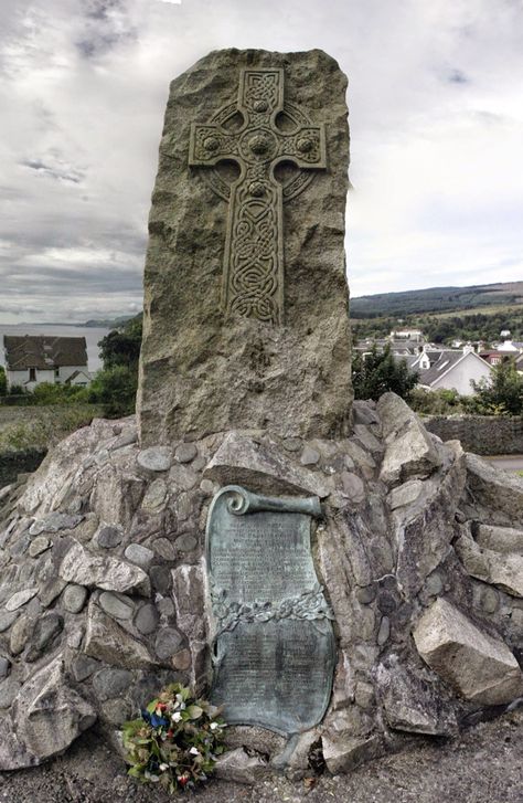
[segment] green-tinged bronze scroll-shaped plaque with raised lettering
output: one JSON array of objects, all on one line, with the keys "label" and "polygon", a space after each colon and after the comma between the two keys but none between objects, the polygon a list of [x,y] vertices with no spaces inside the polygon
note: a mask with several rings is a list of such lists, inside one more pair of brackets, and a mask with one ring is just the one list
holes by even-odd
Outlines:
[{"label": "green-tinged bronze scroll-shaped plaque with raised lettering", "polygon": [[239,486],[213,499],[206,560],[214,624],[211,698],[226,721],[284,736],[321,721],[335,664],[331,609],[312,562],[317,497]]}]

